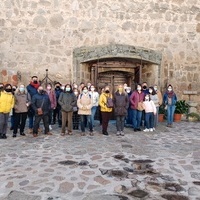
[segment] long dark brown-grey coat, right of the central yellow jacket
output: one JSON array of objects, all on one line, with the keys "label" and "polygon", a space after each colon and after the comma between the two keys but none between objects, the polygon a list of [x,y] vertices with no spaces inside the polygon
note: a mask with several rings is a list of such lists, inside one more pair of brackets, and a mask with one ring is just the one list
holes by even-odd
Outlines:
[{"label": "long dark brown-grey coat, right of the central yellow jacket", "polygon": [[114,93],[113,97],[114,111],[116,116],[126,116],[127,109],[129,107],[129,98],[126,93],[120,94],[119,92]]}]

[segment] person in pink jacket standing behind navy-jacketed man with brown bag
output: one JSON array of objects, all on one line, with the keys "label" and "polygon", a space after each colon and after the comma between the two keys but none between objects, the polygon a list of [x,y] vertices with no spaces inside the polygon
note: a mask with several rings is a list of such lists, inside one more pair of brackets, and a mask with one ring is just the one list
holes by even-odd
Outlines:
[{"label": "person in pink jacket standing behind navy-jacketed man with brown bag", "polygon": [[53,111],[56,109],[57,101],[56,101],[56,94],[55,91],[52,89],[51,83],[47,84],[46,92],[51,102],[51,109],[49,110],[49,130],[52,130],[51,124],[52,124]]}]

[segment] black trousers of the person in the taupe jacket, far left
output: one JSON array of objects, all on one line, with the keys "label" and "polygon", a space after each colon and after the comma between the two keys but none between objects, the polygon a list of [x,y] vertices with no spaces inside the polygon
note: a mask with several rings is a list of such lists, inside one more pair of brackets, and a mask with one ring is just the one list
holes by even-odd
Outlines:
[{"label": "black trousers of the person in the taupe jacket, far left", "polygon": [[26,119],[27,119],[27,112],[25,113],[15,113],[14,118],[14,130],[13,134],[17,134],[17,129],[20,126],[20,133],[24,132],[24,128],[26,125]]}]

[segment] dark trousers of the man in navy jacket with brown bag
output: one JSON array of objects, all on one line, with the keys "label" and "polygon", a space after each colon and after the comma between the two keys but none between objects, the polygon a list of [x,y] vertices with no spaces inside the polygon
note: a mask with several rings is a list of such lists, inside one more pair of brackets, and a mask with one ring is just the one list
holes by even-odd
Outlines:
[{"label": "dark trousers of the man in navy jacket with brown bag", "polygon": [[40,125],[40,121],[43,120],[44,124],[44,133],[47,134],[49,132],[49,116],[46,115],[35,115],[35,121],[33,126],[33,134],[38,134],[38,129]]}]

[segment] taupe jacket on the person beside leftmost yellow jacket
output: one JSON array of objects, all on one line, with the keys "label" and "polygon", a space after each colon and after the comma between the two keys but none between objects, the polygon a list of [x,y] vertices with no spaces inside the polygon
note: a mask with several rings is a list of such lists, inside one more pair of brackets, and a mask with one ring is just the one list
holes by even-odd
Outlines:
[{"label": "taupe jacket on the person beside leftmost yellow jacket", "polygon": [[28,106],[31,104],[31,96],[29,93],[15,93],[15,112],[24,113],[28,112]]}]

